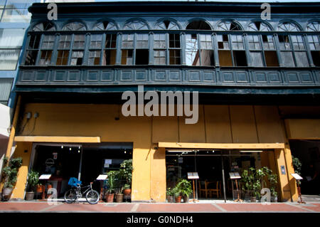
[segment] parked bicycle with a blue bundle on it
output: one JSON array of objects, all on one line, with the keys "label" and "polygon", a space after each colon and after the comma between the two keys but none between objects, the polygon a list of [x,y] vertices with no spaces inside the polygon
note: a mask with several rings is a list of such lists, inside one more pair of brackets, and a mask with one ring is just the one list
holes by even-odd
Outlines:
[{"label": "parked bicycle with a blue bundle on it", "polygon": [[[73,188],[65,192],[65,202],[67,204],[72,204],[74,201],[85,195],[85,199],[89,204],[97,204],[100,199],[100,195],[97,191],[92,189],[93,182],[90,182],[88,186],[81,186],[81,183],[82,182],[78,181],[76,178],[70,178],[68,184],[73,186]],[[83,191],[83,189],[85,189],[85,191]]]}]

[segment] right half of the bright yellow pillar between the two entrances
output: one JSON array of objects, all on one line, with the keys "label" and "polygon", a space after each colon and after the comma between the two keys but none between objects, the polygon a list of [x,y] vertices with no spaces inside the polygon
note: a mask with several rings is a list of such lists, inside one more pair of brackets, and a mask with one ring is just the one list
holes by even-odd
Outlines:
[{"label": "right half of the bright yellow pillar between the two entrances", "polygon": [[166,149],[152,150],[151,157],[151,199],[166,201]]}]

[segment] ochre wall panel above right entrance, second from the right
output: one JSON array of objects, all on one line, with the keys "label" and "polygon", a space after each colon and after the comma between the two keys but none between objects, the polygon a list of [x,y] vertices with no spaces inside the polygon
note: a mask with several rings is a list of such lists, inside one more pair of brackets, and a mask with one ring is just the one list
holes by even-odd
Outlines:
[{"label": "ochre wall panel above right entrance, second from the right", "polygon": [[252,106],[230,106],[233,142],[258,142]]}]

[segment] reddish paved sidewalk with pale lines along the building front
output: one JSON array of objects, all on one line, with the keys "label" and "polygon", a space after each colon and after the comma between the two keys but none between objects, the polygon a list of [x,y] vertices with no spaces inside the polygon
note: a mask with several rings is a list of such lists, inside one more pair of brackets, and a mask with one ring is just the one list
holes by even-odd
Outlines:
[{"label": "reddish paved sidewalk with pale lines along the building front", "polygon": [[320,213],[320,202],[297,203],[87,203],[50,205],[46,201],[9,201],[0,203],[0,213],[4,212],[99,212],[99,213]]}]

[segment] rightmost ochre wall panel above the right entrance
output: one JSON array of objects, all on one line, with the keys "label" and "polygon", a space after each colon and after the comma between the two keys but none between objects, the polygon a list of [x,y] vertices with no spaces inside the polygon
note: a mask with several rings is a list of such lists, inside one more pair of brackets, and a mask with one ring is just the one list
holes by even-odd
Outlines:
[{"label": "rightmost ochre wall panel above the right entrance", "polygon": [[275,106],[255,106],[259,142],[284,142],[284,130]]}]

